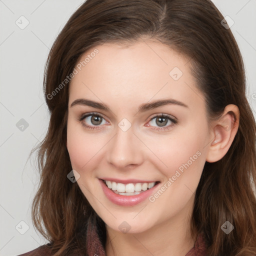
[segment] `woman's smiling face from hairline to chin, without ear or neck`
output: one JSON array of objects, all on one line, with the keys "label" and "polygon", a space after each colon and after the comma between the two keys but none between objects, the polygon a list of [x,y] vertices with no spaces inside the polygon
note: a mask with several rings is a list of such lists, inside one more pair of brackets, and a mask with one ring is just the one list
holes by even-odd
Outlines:
[{"label": "woman's smiling face from hairline to chin, without ear or neck", "polygon": [[189,59],[159,42],[96,49],[69,85],[66,145],[77,183],[114,230],[182,225],[212,139]]}]

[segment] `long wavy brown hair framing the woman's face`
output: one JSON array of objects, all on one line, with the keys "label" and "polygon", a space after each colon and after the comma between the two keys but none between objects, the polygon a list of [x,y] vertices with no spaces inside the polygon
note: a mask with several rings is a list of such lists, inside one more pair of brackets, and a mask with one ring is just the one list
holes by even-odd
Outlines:
[{"label": "long wavy brown hair framing the woman's face", "polygon": [[[205,162],[195,193],[191,234],[195,239],[204,233],[210,256],[256,255],[256,125],[245,96],[242,57],[222,19],[210,0],[87,0],[69,18],[48,55],[44,95],[50,121],[43,142],[33,149],[39,149],[40,183],[32,219],[51,242],[54,255],[75,250],[86,255],[84,239],[91,219],[97,219],[105,241],[103,221],[77,183],[67,178],[72,169],[66,149],[69,74],[89,49],[142,37],[189,57],[210,118],[221,114],[227,104],[238,106],[239,128],[228,152],[217,162]],[[234,226],[228,235],[220,228],[225,221]]]}]

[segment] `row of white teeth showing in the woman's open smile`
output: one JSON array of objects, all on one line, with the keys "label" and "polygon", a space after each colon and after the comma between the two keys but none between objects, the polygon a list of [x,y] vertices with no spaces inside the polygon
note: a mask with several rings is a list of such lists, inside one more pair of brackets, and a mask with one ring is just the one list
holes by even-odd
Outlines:
[{"label": "row of white teeth showing in the woman's open smile", "polygon": [[122,194],[122,195],[134,195],[141,192],[141,190],[145,191],[147,189],[152,188],[156,182],[123,184],[123,183],[116,183],[110,180],[105,180],[105,183],[107,187],[115,191],[115,193]]}]

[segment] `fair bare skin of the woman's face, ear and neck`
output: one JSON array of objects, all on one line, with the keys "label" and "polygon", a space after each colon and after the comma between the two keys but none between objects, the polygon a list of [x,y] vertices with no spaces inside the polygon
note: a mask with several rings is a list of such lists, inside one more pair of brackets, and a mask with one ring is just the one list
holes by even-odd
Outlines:
[{"label": "fair bare skin of the woman's face, ear and neck", "polygon": [[[80,175],[81,191],[106,223],[106,254],[185,255],[194,245],[189,221],[204,163],[217,161],[227,152],[238,128],[239,110],[228,105],[221,118],[209,122],[188,59],[166,45],[137,41],[96,48],[98,53],[69,84],[66,146],[72,168]],[[174,67],[183,73],[178,80],[169,75]],[[103,102],[111,111],[70,107],[78,98]],[[167,98],[187,107],[168,104],[138,113],[140,104]],[[101,114],[102,122],[93,125],[93,116],[78,121],[89,112]],[[162,113],[177,123],[168,120],[168,128],[157,130],[161,127],[157,118],[150,119]],[[131,124],[127,131],[118,127],[123,118]],[[85,128],[82,122],[96,128]],[[98,181],[102,177],[149,179],[160,181],[161,186],[198,151],[197,159],[153,202],[116,205]],[[118,228],[123,221],[130,226],[127,233]]]}]

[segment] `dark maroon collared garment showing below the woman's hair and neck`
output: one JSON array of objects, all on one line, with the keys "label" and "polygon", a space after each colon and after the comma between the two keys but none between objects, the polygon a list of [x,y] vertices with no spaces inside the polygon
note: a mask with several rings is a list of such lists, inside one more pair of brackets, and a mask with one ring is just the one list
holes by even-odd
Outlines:
[{"label": "dark maroon collared garment showing below the woman's hair and neck", "polygon": [[[88,227],[87,248],[89,256],[105,256],[104,248],[99,240],[96,229],[91,226]],[[20,254],[18,256],[51,256],[50,247],[45,244],[29,252]],[[71,256],[71,255],[70,255]],[[75,255],[82,256],[82,255]],[[194,244],[185,256],[207,256],[206,246],[202,234],[200,234]]]}]

